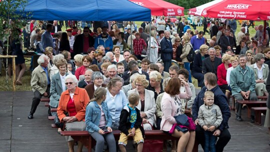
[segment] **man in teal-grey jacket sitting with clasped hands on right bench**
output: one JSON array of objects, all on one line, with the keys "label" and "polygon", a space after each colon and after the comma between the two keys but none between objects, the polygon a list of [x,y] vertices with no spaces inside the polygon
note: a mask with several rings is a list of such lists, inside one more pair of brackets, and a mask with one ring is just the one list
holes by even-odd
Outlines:
[{"label": "man in teal-grey jacket sitting with clasped hands on right bench", "polygon": [[[230,72],[229,86],[231,87],[232,96],[235,100],[257,100],[255,93],[255,76],[253,70],[246,66],[247,57],[244,54],[239,55],[239,65]],[[236,120],[242,121],[241,104],[236,102]],[[254,122],[253,111],[251,111],[251,122]]]}]

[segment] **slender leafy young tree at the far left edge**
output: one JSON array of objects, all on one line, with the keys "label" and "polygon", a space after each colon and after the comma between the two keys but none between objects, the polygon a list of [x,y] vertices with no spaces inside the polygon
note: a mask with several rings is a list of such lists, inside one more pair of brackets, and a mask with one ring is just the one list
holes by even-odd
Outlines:
[{"label": "slender leafy young tree at the far left edge", "polygon": [[[21,39],[19,30],[25,25],[25,19],[30,16],[30,12],[24,12],[28,0],[0,0],[0,40],[4,43],[6,54],[9,51],[10,39]],[[23,16],[26,18],[22,19]],[[1,85],[3,86],[3,85]],[[6,86],[9,90],[7,67],[6,67]]]}]

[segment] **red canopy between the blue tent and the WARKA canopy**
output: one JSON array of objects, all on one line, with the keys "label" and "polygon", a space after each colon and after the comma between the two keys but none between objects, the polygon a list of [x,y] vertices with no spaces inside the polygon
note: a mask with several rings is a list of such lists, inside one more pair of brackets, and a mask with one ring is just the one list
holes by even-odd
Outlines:
[{"label": "red canopy between the blue tent and the WARKA canopy", "polygon": [[138,5],[151,9],[155,16],[183,16],[184,8],[163,0],[129,0]]}]

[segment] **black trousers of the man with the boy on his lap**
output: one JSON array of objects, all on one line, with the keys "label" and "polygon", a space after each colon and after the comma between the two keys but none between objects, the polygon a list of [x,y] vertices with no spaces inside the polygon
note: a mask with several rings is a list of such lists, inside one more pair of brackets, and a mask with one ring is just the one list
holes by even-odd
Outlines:
[{"label": "black trousers of the man with the boy on his lap", "polygon": [[[205,141],[204,132],[200,125],[196,125],[196,140],[198,144],[200,144],[201,147],[204,148],[204,141]],[[224,147],[226,146],[229,140],[230,140],[230,133],[227,128],[224,128],[218,136],[218,140],[215,145],[216,152],[223,151]]]}]

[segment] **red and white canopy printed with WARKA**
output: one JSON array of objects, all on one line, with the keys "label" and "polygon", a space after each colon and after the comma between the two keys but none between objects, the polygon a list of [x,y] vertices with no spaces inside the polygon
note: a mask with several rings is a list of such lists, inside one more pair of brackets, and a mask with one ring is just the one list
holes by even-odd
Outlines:
[{"label": "red and white canopy printed with WARKA", "polygon": [[212,18],[270,19],[270,0],[213,0],[189,9],[189,14]]}]

